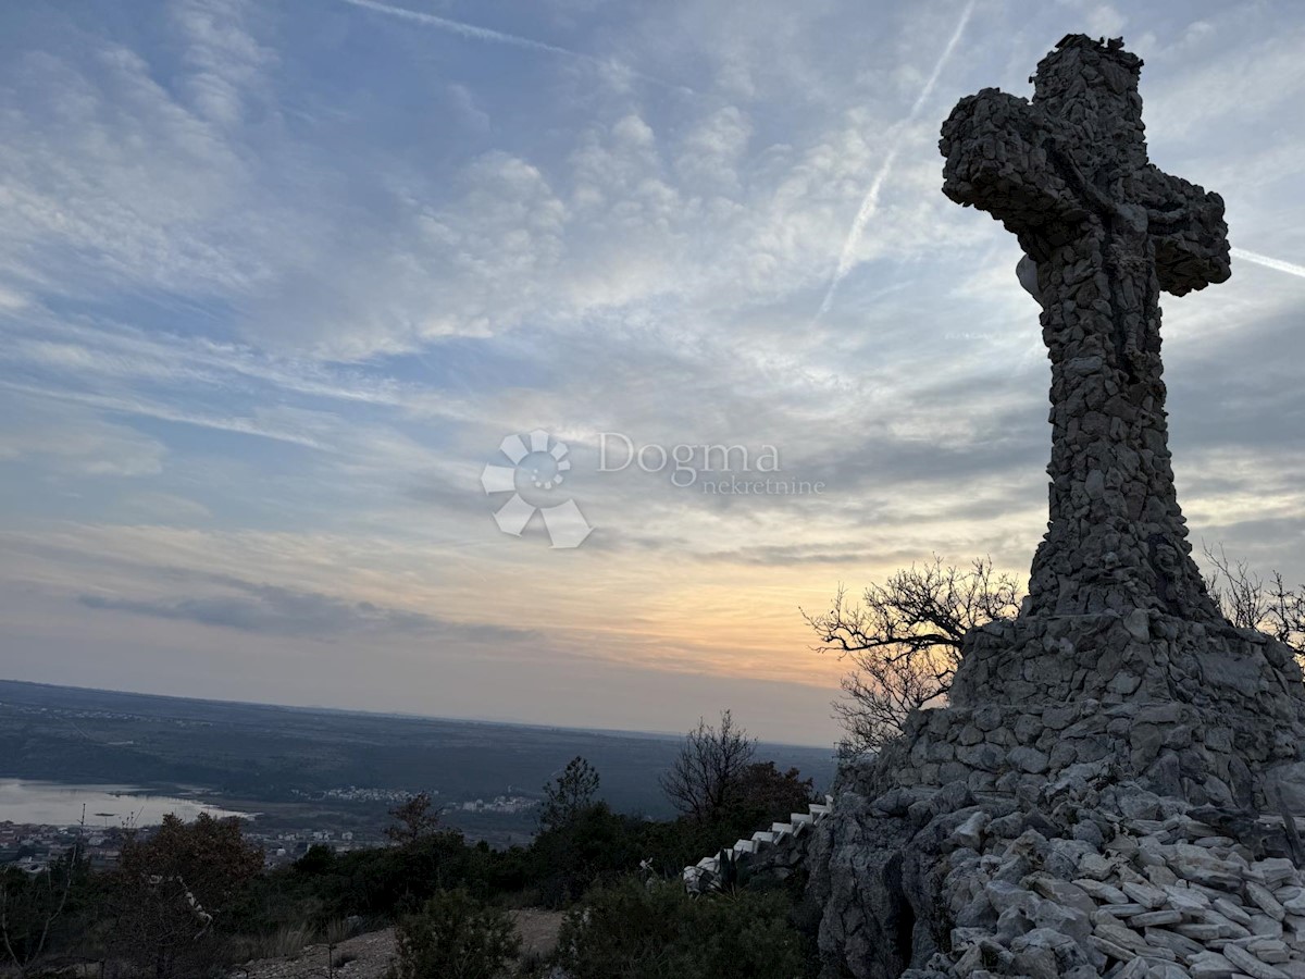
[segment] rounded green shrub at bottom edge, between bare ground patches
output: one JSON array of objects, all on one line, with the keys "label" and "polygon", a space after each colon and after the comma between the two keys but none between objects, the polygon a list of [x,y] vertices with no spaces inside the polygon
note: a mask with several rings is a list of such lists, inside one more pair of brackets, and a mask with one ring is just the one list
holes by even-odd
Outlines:
[{"label": "rounded green shrub at bottom edge, between bare ground patches", "polygon": [[394,929],[390,979],[496,979],[521,948],[512,918],[466,890],[446,890]]}]

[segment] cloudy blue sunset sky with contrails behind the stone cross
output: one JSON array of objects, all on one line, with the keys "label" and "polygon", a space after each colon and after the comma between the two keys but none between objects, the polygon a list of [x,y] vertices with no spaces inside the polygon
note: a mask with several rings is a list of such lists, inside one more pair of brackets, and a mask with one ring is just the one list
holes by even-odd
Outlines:
[{"label": "cloudy blue sunset sky with contrails behind the stone cross", "polygon": [[1073,31],[1227,201],[1164,299],[1193,540],[1305,581],[1298,4],[17,0],[0,676],[831,744],[800,608],[1045,529],[937,138]]}]

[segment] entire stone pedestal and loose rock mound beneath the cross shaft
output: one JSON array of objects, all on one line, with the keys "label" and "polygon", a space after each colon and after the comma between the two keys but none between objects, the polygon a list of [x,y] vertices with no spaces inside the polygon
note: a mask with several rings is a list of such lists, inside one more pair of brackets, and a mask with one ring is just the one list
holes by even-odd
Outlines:
[{"label": "entire stone pedestal and loose rock mound beneath the cross shaft", "polygon": [[977,630],[816,828],[823,975],[1305,979],[1302,707],[1292,650],[1227,625]]}]

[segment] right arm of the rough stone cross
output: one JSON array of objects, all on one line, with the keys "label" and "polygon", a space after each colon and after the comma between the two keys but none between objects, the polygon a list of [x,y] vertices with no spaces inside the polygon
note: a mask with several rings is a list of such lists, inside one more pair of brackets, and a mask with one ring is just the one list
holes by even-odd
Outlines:
[{"label": "right arm of the rough stone cross", "polygon": [[1155,164],[1147,164],[1139,178],[1138,200],[1155,241],[1160,288],[1181,296],[1224,282],[1232,268],[1223,197]]}]

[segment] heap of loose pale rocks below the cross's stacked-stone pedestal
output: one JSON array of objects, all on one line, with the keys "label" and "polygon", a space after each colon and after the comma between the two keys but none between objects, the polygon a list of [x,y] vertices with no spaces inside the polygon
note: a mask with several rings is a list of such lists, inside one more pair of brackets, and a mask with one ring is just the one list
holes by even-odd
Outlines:
[{"label": "heap of loose pale rocks below the cross's stacked-stone pedestal", "polygon": [[[816,843],[822,949],[859,978],[1305,979],[1295,820],[1160,796],[1105,762],[1011,787],[842,794],[855,818]],[[880,901],[840,902],[853,878]]]}]

